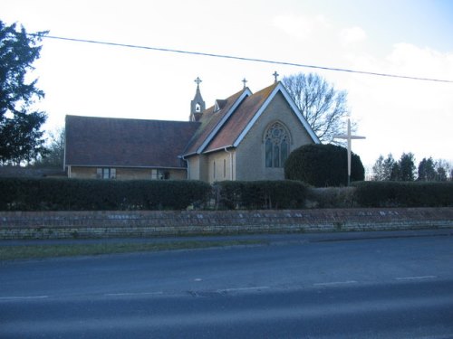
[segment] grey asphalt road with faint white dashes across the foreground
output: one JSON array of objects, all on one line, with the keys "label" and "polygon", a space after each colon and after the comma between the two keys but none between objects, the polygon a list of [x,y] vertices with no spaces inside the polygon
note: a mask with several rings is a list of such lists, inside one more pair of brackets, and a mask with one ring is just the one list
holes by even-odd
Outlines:
[{"label": "grey asphalt road with faint white dashes across the foreground", "polygon": [[452,338],[453,236],[381,234],[3,262],[0,338]]}]

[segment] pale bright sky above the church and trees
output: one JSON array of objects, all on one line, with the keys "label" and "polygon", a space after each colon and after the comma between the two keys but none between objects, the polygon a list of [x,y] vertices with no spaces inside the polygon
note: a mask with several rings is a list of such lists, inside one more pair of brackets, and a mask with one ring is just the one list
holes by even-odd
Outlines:
[{"label": "pale bright sky above the church and trees", "polygon": [[[27,31],[189,52],[453,81],[449,0],[1,0]],[[348,92],[364,165],[412,152],[453,162],[453,83],[45,39],[34,77],[46,129],[67,114],[187,120],[194,80],[207,107],[242,89],[316,71]],[[346,127],[346,125],[345,125]]]}]

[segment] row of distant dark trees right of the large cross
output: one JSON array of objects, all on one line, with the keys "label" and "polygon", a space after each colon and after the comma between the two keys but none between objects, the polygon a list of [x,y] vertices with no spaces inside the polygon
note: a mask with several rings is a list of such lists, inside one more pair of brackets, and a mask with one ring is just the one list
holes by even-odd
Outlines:
[{"label": "row of distant dark trees right of the large cross", "polygon": [[446,160],[433,160],[424,157],[416,166],[415,156],[412,153],[403,153],[399,160],[393,155],[382,155],[372,166],[372,181],[422,181],[446,182],[453,180],[453,167]]}]

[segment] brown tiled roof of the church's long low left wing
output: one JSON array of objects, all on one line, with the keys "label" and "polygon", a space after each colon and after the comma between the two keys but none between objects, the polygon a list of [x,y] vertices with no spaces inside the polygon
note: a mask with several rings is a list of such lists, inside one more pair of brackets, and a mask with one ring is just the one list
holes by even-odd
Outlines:
[{"label": "brown tiled roof of the church's long low left wing", "polygon": [[66,116],[65,165],[182,168],[200,123]]}]

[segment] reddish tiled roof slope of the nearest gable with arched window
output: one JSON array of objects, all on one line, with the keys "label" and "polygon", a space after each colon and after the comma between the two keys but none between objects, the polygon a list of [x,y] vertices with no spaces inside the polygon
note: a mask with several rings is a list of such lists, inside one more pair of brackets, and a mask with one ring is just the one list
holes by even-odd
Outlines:
[{"label": "reddish tiled roof slope of the nearest gable with arched window", "polygon": [[233,115],[226,121],[226,124],[217,133],[217,136],[209,143],[205,152],[232,146],[237,137],[246,128],[248,123],[255,117],[256,112],[263,106],[265,99],[269,97],[278,83],[244,99]]}]

